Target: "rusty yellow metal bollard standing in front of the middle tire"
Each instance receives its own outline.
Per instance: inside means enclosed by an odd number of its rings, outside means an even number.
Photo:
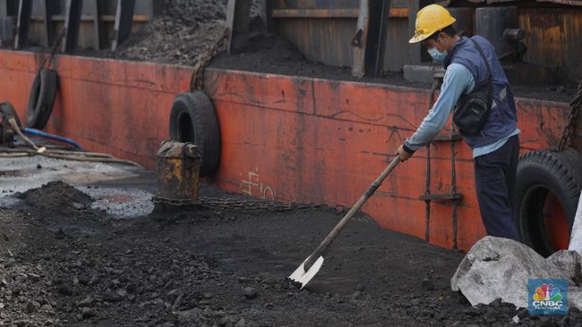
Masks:
[[[163,141],[158,149],[158,194],[156,200],[173,205],[198,201],[200,148],[192,143]]]

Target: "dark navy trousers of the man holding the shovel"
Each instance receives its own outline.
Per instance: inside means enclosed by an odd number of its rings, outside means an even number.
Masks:
[[[477,199],[487,235],[518,240],[511,214],[518,160],[518,136],[509,138],[492,153],[474,159]]]

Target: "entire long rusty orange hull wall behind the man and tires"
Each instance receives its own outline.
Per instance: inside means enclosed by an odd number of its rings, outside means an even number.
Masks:
[[[0,100],[24,118],[39,59],[0,51]],[[190,69],[64,56],[57,61],[61,91],[48,131],[155,168],[167,138],[176,93],[188,88]],[[428,111],[424,89],[210,69],[206,91],[218,113],[222,153],[211,182],[222,189],[283,201],[353,205]],[[567,104],[518,99],[522,149],[555,145]],[[450,145],[432,146],[432,193],[450,190]],[[424,238],[426,150],[401,164],[364,205],[364,212],[395,231]],[[471,152],[457,142],[458,246],[484,236],[478,214]],[[432,204],[431,242],[452,246],[449,203]],[[304,228],[290,226],[290,228]]]

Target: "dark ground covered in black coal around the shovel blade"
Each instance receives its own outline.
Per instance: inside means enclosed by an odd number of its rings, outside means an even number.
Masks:
[[[343,213],[211,187],[201,195],[193,211],[133,219],[61,181],[9,196],[13,204],[0,207],[0,326],[503,326],[516,314],[519,325],[582,325],[578,310],[470,306],[449,287],[461,253],[364,215],[300,291],[287,275]]]

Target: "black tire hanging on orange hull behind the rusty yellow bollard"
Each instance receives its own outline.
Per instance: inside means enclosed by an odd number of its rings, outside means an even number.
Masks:
[[[201,177],[218,170],[220,161],[220,129],[210,98],[202,91],[175,96],[170,113],[170,138],[192,142],[201,149]]]

